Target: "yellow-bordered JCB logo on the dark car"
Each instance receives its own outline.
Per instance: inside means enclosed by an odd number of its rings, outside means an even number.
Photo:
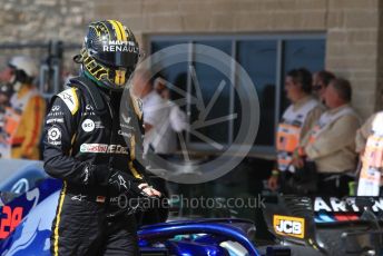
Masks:
[[[305,236],[304,218],[274,215],[273,227],[275,233],[282,236],[292,236],[297,238],[304,238]]]

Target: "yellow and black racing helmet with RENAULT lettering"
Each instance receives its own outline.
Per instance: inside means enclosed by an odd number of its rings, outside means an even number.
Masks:
[[[135,70],[140,52],[134,33],[117,20],[92,22],[88,27],[81,53],[85,76],[98,86],[121,90]]]

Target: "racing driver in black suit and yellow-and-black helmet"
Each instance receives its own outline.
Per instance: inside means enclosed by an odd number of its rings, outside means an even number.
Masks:
[[[130,200],[160,193],[145,181],[135,158],[138,129],[121,132],[128,125],[119,120],[122,90],[138,59],[138,43],[127,27],[117,20],[92,22],[73,58],[81,63],[80,76],[51,100],[45,169],[63,180],[51,229],[52,255],[139,254],[131,210],[139,207],[125,209],[118,200],[121,195]],[[139,99],[124,100],[141,122]]]

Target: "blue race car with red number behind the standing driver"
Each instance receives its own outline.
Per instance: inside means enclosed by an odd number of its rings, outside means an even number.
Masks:
[[[45,174],[42,163],[23,161],[16,166],[19,168],[0,185],[12,194],[0,206],[0,254],[50,255],[50,229],[61,183]],[[29,189],[10,189],[23,177],[28,177]],[[252,221],[233,218],[184,219],[141,226],[138,230],[140,254],[289,255],[288,248],[256,248],[251,239],[254,230]]]

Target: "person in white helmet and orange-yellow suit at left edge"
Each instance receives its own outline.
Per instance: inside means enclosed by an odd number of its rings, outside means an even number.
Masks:
[[[46,101],[33,86],[38,75],[35,61],[27,56],[10,59],[0,72],[0,81],[14,90],[6,110],[2,142],[7,146],[3,158],[40,159],[39,142]]]

